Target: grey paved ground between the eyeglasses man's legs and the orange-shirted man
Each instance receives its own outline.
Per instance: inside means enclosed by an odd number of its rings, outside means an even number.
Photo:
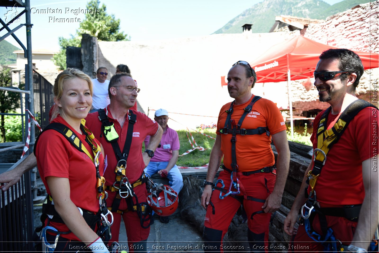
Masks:
[[[169,223],[161,223],[155,214],[154,223],[150,226],[147,249],[143,252],[204,252],[202,235],[191,225],[182,221],[176,211],[170,216]],[[127,237],[124,222],[121,221],[119,244],[127,250]]]

